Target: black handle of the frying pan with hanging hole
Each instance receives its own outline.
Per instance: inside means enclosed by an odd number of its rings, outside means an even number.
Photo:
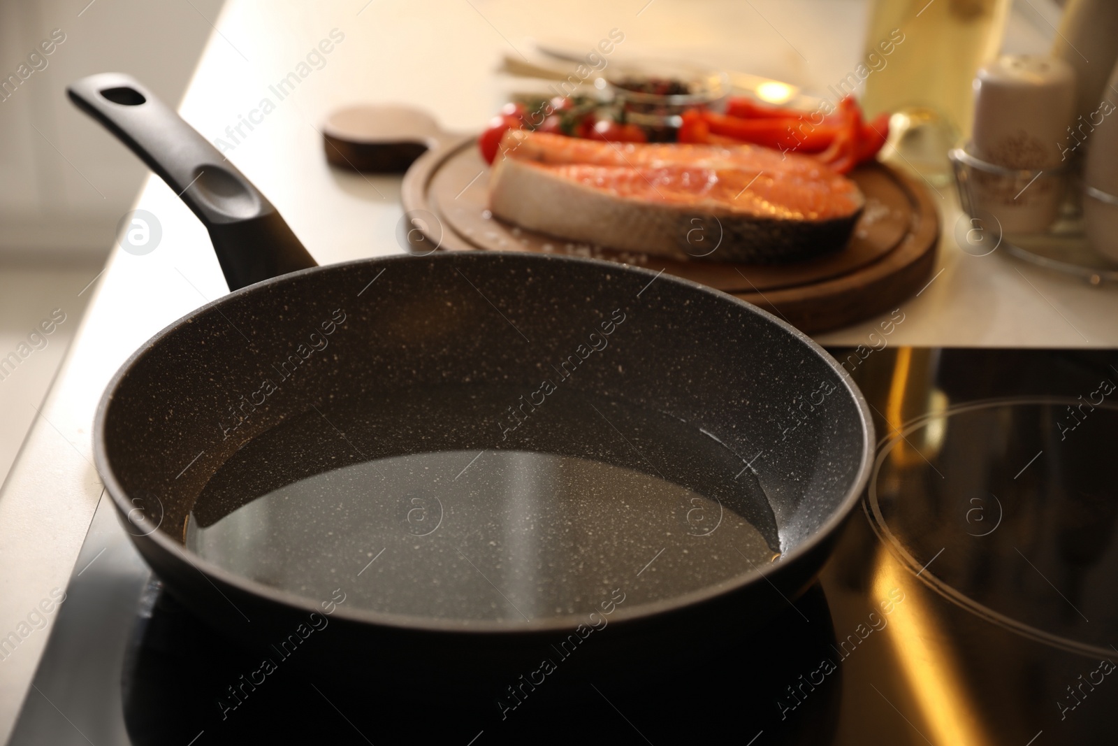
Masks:
[[[91,75],[70,101],[158,173],[209,230],[229,290],[316,266],[276,208],[167,104],[135,78]]]

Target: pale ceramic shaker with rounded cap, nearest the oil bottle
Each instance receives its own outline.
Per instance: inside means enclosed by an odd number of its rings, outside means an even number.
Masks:
[[[972,190],[1005,233],[1041,232],[1059,215],[1062,167],[1076,144],[1074,83],[1071,65],[1038,55],[1005,55],[978,69],[970,154],[1012,172],[978,169]]]

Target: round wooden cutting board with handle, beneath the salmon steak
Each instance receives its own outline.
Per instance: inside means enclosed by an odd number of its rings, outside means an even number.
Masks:
[[[399,122],[399,110],[390,111]],[[348,110],[343,138],[328,123],[325,150],[329,158],[340,139],[375,150],[429,148],[408,169],[401,191],[410,219],[407,235],[413,242],[421,237],[417,246],[570,254],[664,271],[731,293],[809,333],[897,308],[928,282],[935,266],[939,219],[930,196],[910,177],[881,163],[851,173],[866,205],[842,251],[783,266],[713,262],[717,248],[708,258],[681,261],[571,243],[503,223],[487,209],[490,167],[477,151],[476,138],[454,138],[432,124],[420,128],[424,131],[408,143],[398,132],[385,135],[386,113],[377,106]],[[363,138],[362,119],[368,122]],[[409,126],[401,122],[396,129]],[[718,236],[711,238],[717,245]]]

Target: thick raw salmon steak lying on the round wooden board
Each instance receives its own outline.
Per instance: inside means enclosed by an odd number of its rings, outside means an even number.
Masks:
[[[490,210],[529,230],[684,259],[784,264],[846,245],[865,198],[815,158],[750,144],[509,130]]]

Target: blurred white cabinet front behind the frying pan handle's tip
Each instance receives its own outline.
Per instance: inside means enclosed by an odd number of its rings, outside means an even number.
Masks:
[[[54,29],[65,35],[44,57],[46,67],[0,101],[0,272],[12,261],[104,259],[146,168],[67,101],[66,85],[92,73],[131,73],[177,104],[220,7],[220,0],[0,0],[0,81],[18,76]]]

